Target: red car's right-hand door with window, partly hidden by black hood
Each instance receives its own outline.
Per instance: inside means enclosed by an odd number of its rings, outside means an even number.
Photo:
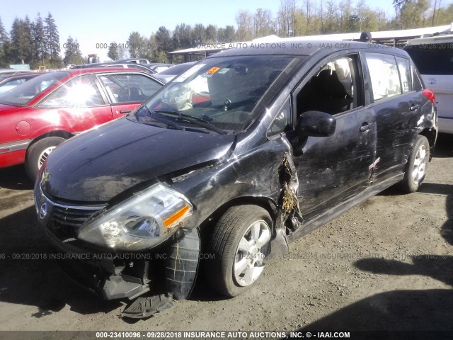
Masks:
[[[151,77],[132,72],[99,74],[98,79],[108,95],[113,118],[130,113],[162,87]]]

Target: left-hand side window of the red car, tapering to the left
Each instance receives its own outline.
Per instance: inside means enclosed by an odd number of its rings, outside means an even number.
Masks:
[[[104,100],[93,77],[86,74],[67,81],[47,96],[38,107],[84,108],[103,105]]]

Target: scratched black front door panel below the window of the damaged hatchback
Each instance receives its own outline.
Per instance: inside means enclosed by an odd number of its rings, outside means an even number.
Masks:
[[[357,195],[369,183],[376,143],[373,111],[360,108],[338,115],[336,120],[336,132],[331,137],[308,137],[302,154],[294,157],[304,220]],[[372,128],[361,132],[364,123]]]

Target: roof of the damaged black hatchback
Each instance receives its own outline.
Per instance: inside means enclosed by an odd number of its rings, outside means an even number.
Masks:
[[[237,43],[239,45],[240,43]],[[350,40],[284,40],[275,42],[241,43],[238,48],[223,50],[208,58],[234,55],[329,55],[340,50],[367,50],[407,56],[403,50],[387,45]],[[242,46],[242,47],[240,47]]]

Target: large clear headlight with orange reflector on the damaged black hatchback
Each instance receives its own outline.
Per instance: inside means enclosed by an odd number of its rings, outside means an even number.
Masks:
[[[159,183],[88,220],[77,234],[99,246],[144,250],[170,237],[192,211],[185,196]]]

